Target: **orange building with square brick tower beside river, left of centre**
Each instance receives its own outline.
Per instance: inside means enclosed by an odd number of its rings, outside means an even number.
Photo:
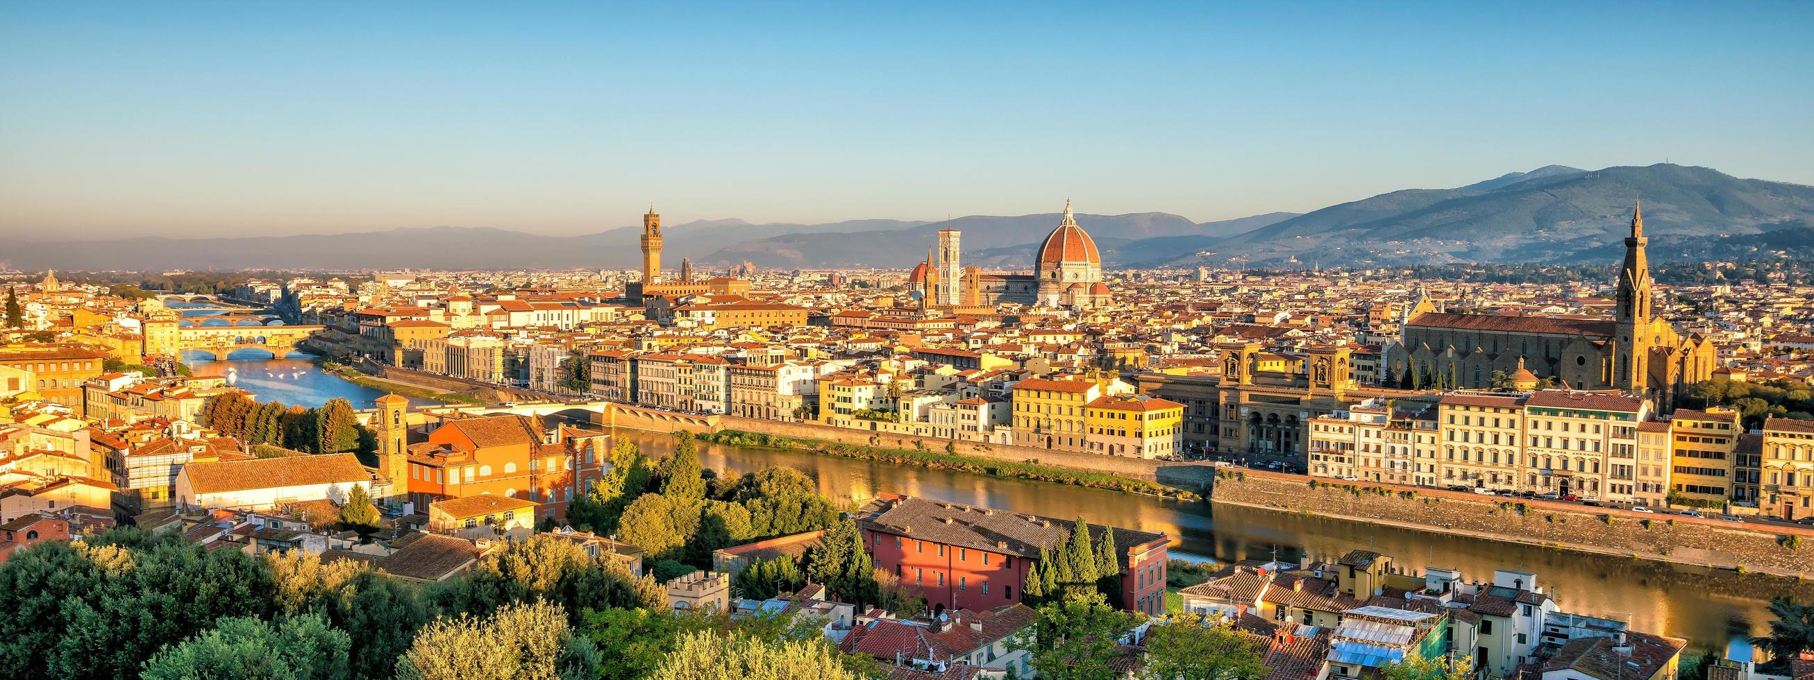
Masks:
[[[533,500],[535,519],[564,519],[568,502],[597,484],[610,459],[610,437],[561,426],[542,441],[541,421],[486,415],[448,421],[408,444],[408,403],[377,399],[379,453],[397,500],[419,511],[435,500],[473,495]],[[395,455],[401,448],[403,455]]]

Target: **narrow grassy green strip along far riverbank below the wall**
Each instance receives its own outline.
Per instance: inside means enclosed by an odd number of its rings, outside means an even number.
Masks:
[[[989,477],[1009,477],[1009,479],[1029,479],[1036,482],[1054,482],[1054,484],[1072,484],[1072,486],[1090,486],[1110,491],[1128,491],[1157,495],[1166,499],[1195,500],[1197,495],[1186,490],[1148,482],[1141,479],[1126,479],[1099,471],[1079,471],[1067,470],[1048,464],[1039,464],[1036,461],[1014,462],[1014,461],[992,461],[976,459],[961,453],[932,453],[923,450],[905,450],[905,448],[882,448],[882,446],[863,446],[863,444],[844,444],[824,439],[795,439],[778,437],[760,432],[742,432],[742,430],[718,430],[713,433],[700,435],[702,441],[726,446],[760,446],[760,448],[784,448],[814,452],[825,455],[838,455],[845,459],[876,461],[891,464],[911,464],[918,468],[931,470],[956,470],[969,471],[976,475]]]

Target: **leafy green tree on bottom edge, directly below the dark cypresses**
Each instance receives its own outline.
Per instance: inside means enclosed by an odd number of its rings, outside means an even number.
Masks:
[[[1041,678],[1110,680],[1119,638],[1134,627],[1134,615],[1108,606],[1101,593],[1078,593],[1039,607],[1032,635],[1016,642],[1027,649]]]

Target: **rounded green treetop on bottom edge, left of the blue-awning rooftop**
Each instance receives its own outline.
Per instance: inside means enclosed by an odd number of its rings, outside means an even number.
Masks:
[[[1261,680],[1266,669],[1264,638],[1214,626],[1201,615],[1181,615],[1168,626],[1146,629],[1145,676]]]

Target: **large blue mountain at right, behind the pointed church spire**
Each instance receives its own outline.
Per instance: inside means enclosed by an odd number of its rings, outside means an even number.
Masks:
[[[1331,205],[1221,239],[1214,256],[1179,252],[1145,265],[1569,261],[1618,243],[1636,199],[1643,199],[1653,238],[1745,236],[1814,218],[1814,187],[1805,185],[1667,163],[1589,172],[1547,167]]]

